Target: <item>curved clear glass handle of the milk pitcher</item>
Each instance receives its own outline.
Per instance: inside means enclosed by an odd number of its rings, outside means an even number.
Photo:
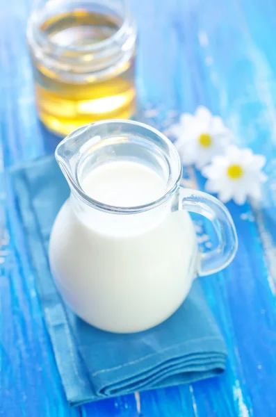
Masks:
[[[212,195],[180,187],[179,210],[192,211],[211,220],[218,236],[215,249],[200,252],[197,275],[210,275],[229,265],[238,249],[238,238],[234,222],[225,205]]]

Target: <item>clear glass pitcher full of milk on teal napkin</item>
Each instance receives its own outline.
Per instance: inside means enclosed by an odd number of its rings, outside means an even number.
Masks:
[[[156,129],[122,120],[88,124],[60,142],[56,160],[71,195],[51,232],[51,271],[65,302],[91,325],[122,333],[158,325],[195,277],[234,258],[227,208],[180,186],[177,149]],[[218,245],[210,252],[198,250],[189,211],[211,220]]]

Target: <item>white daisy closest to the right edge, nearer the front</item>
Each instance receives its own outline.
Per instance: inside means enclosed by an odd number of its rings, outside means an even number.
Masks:
[[[236,204],[244,204],[247,197],[260,199],[261,183],[267,179],[261,172],[265,163],[263,155],[231,145],[225,156],[215,156],[211,165],[203,168],[202,174],[208,178],[205,188],[209,193],[218,193],[224,203],[234,199]]]

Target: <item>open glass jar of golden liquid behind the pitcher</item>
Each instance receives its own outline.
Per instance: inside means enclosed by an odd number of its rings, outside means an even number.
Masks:
[[[38,113],[60,136],[135,111],[136,26],[124,0],[42,0],[27,38]]]

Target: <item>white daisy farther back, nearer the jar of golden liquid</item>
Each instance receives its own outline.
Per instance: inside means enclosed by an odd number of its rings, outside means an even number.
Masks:
[[[204,106],[198,107],[195,115],[181,115],[179,124],[174,124],[169,133],[177,138],[174,145],[182,163],[194,163],[198,169],[209,163],[213,156],[223,154],[232,138],[222,119],[211,115]]]

